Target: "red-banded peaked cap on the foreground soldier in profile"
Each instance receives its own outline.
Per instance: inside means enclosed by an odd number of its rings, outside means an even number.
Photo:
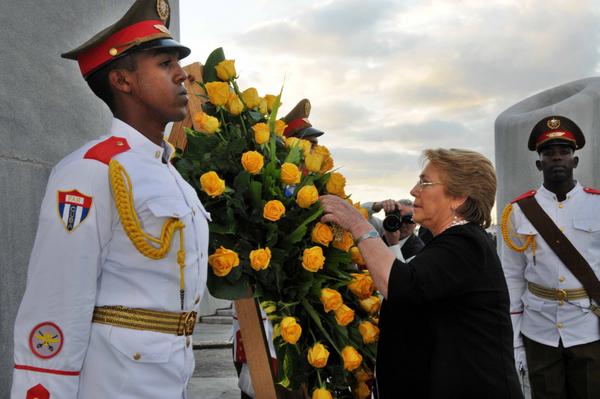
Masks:
[[[133,51],[174,48],[180,59],[187,57],[190,49],[176,42],[169,32],[170,19],[168,0],[136,0],[120,20],[61,57],[76,60],[86,79]]]

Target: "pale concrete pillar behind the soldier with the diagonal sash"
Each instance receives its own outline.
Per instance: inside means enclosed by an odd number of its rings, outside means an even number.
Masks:
[[[533,95],[502,112],[496,119],[497,214],[517,195],[537,189],[542,174],[535,167],[538,154],[527,149],[533,126],[542,118],[562,115],[585,135],[585,147],[576,152],[575,178],[584,186],[600,187],[600,78],[569,82]]]

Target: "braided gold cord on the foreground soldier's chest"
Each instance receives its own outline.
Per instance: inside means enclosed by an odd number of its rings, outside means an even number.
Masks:
[[[125,168],[115,159],[112,159],[108,165],[108,175],[112,194],[115,200],[115,206],[121,224],[127,234],[127,237],[133,243],[133,246],[144,256],[150,259],[163,259],[171,249],[173,235],[179,231],[179,251],[177,251],[177,264],[179,264],[179,296],[181,301],[181,310],[183,310],[185,299],[185,242],[183,229],[185,224],[177,218],[169,218],[162,227],[160,238],[156,238],[142,229],[137,212],[133,206],[133,186],[131,179],[125,171]],[[158,247],[151,244],[157,244]]]

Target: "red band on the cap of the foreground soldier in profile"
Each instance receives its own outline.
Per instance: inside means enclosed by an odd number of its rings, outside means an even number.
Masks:
[[[160,20],[142,21],[121,29],[77,57],[81,74],[84,78],[87,77],[90,72],[134,45],[158,38],[171,38],[168,32]]]

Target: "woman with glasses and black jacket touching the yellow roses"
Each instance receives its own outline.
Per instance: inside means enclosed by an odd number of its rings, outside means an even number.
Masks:
[[[484,230],[496,194],[494,168],[467,150],[426,150],[424,159],[411,190],[413,220],[433,239],[408,263],[395,259],[350,204],[321,197],[322,221],[350,231],[385,298],[379,397],[522,398],[508,290]]]

